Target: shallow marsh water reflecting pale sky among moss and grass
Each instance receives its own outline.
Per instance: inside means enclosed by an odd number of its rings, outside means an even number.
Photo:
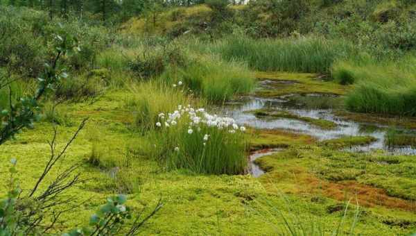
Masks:
[[[275,86],[275,81],[262,81],[259,90]],[[279,81],[279,83],[292,83],[291,81]],[[278,89],[278,87],[276,88]],[[346,151],[367,152],[382,149],[391,155],[416,155],[415,146],[392,146],[387,140],[387,134],[391,130],[401,133],[415,135],[416,130],[408,130],[400,127],[386,126],[376,123],[356,122],[338,117],[334,111],[342,107],[342,99],[331,94],[289,94],[276,98],[263,98],[259,96],[245,96],[236,101],[226,104],[223,108],[225,115],[233,117],[239,124],[253,128],[288,130],[293,133],[311,135],[317,140],[332,140],[345,136],[372,136],[376,141],[363,145],[351,146]],[[310,117],[313,119],[325,119],[336,124],[336,128],[325,129],[298,119],[257,117],[253,110],[267,108],[267,110],[284,110],[299,117]],[[254,160],[264,155],[270,155],[280,151],[279,149],[263,150],[252,153],[251,169],[252,175],[257,177],[263,171],[254,164]]]

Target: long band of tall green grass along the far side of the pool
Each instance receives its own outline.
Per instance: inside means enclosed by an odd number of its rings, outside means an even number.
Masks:
[[[212,50],[226,60],[243,60],[261,71],[311,73],[325,73],[335,60],[354,53],[354,47],[347,42],[320,37],[281,40],[229,37],[214,44]]]

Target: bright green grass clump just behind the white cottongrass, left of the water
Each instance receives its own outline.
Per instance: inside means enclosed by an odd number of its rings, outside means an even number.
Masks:
[[[225,62],[215,56],[200,56],[185,67],[170,67],[161,78],[173,84],[181,81],[185,90],[216,103],[250,92],[255,82],[245,64]]]

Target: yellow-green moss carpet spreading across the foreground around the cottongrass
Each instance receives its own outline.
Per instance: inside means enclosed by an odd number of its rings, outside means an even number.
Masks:
[[[90,179],[71,189],[79,201],[90,200],[79,210],[62,216],[69,228],[87,222],[106,196],[123,191],[128,192],[128,205],[137,212],[144,207],[150,210],[162,196],[164,207],[144,226],[144,235],[277,235],[280,231],[276,226],[281,217],[268,212],[278,208],[287,216],[289,207],[301,209],[296,214],[302,219],[311,219],[318,214],[331,233],[342,214],[329,213],[327,209],[348,199],[333,199],[320,192],[307,193],[302,189],[308,189],[305,186],[311,182],[306,180],[355,178],[363,185],[388,189],[389,196],[403,199],[415,196],[416,176],[413,171],[403,171],[415,168],[412,157],[334,152],[314,146],[315,140],[308,135],[281,130],[248,130],[254,149],[289,147],[281,155],[259,159],[259,164],[270,171],[259,179],[248,175],[197,175],[184,170],[166,172],[146,155],[146,149],[154,148],[153,144],[131,128],[135,115],[125,107],[126,96],[125,91],[107,92],[94,103],[62,104],[73,126],[58,126],[58,147],[71,137],[81,119],[90,117],[87,127],[60,163],[60,167],[69,167],[81,162],[81,173]],[[3,164],[0,178],[8,178],[7,171],[4,171],[6,163],[16,157],[21,187],[29,189],[33,186],[48,159],[46,140],[51,138],[52,128],[51,123],[38,123],[34,130],[18,135],[16,141],[1,145],[0,161]],[[101,165],[87,161],[94,145]],[[110,175],[114,167],[119,167],[117,178]],[[57,171],[54,169],[47,181]],[[309,173],[319,178],[306,178]],[[304,184],[295,181],[301,177]],[[311,186],[319,189],[319,185]],[[4,187],[0,186],[2,192]],[[273,208],[269,208],[268,203],[272,203]],[[413,212],[383,205],[374,205],[364,211],[356,233],[376,235],[382,231],[395,235],[410,233],[415,228]],[[352,220],[349,214],[345,219],[345,230]],[[400,227],[403,222],[410,222],[408,228]]]

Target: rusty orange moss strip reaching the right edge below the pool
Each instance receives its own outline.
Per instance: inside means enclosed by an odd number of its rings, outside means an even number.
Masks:
[[[273,182],[270,182],[270,179]],[[276,183],[275,180],[279,180],[279,182]],[[283,189],[288,194],[318,194],[338,201],[357,200],[359,205],[365,207],[383,206],[416,212],[416,201],[388,196],[385,189],[364,185],[355,180],[340,182],[322,180],[309,173],[306,167],[285,166],[279,167],[279,170],[275,168],[263,178],[263,182],[267,182],[265,183],[266,188],[270,190]]]

